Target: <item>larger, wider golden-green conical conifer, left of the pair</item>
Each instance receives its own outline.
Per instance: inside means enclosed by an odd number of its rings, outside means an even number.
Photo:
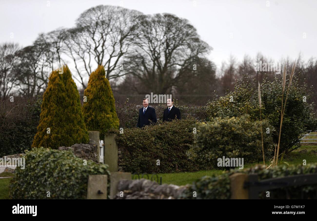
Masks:
[[[52,71],[49,76],[32,147],[57,149],[89,141],[76,84],[68,67],[63,69],[63,74]],[[50,133],[47,133],[47,128],[50,128]]]

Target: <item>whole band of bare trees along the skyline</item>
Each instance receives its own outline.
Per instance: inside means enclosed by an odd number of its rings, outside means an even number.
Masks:
[[[62,24],[61,24],[62,26]],[[217,44],[217,42],[213,43]],[[230,56],[220,67],[208,59],[212,47],[190,21],[172,14],[144,15],[136,10],[99,5],[82,12],[72,28],[40,33],[32,45],[0,44],[0,100],[11,95],[31,98],[45,91],[52,70],[67,64],[79,87],[103,65],[116,101],[142,102],[146,94],[171,94],[180,104],[205,104],[234,89],[237,79],[251,85],[281,77],[276,71],[255,70],[273,63],[260,53],[237,61]],[[269,55],[268,55],[269,56]],[[297,57],[301,81],[316,87],[317,60]],[[277,67],[290,73],[291,59]],[[308,102],[316,102],[314,97]]]

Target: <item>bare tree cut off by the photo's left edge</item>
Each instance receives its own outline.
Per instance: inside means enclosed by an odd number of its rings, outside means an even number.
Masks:
[[[13,68],[17,63],[18,44],[4,43],[0,45],[0,99],[5,100],[16,83]]]

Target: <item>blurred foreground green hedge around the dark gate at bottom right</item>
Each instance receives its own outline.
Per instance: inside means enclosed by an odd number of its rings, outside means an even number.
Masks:
[[[216,177],[202,177],[195,181],[183,192],[181,199],[230,199],[230,175],[242,172],[246,174],[256,173],[259,180],[285,177],[300,174],[312,174],[317,172],[317,163],[303,165],[280,165],[274,168],[265,169],[264,165],[256,165],[246,170],[231,170]],[[193,197],[193,191],[197,197]],[[316,199],[316,185],[302,185],[294,187],[283,187],[275,190],[268,190],[270,197],[266,197],[266,191],[259,193],[260,199],[287,199],[287,192],[290,199],[301,199],[303,191],[304,199]]]

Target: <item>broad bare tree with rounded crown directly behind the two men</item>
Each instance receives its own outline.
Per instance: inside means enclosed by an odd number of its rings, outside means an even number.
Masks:
[[[211,48],[186,20],[171,14],[140,16],[139,35],[125,56],[125,73],[135,76],[140,94],[165,94],[197,68]]]

